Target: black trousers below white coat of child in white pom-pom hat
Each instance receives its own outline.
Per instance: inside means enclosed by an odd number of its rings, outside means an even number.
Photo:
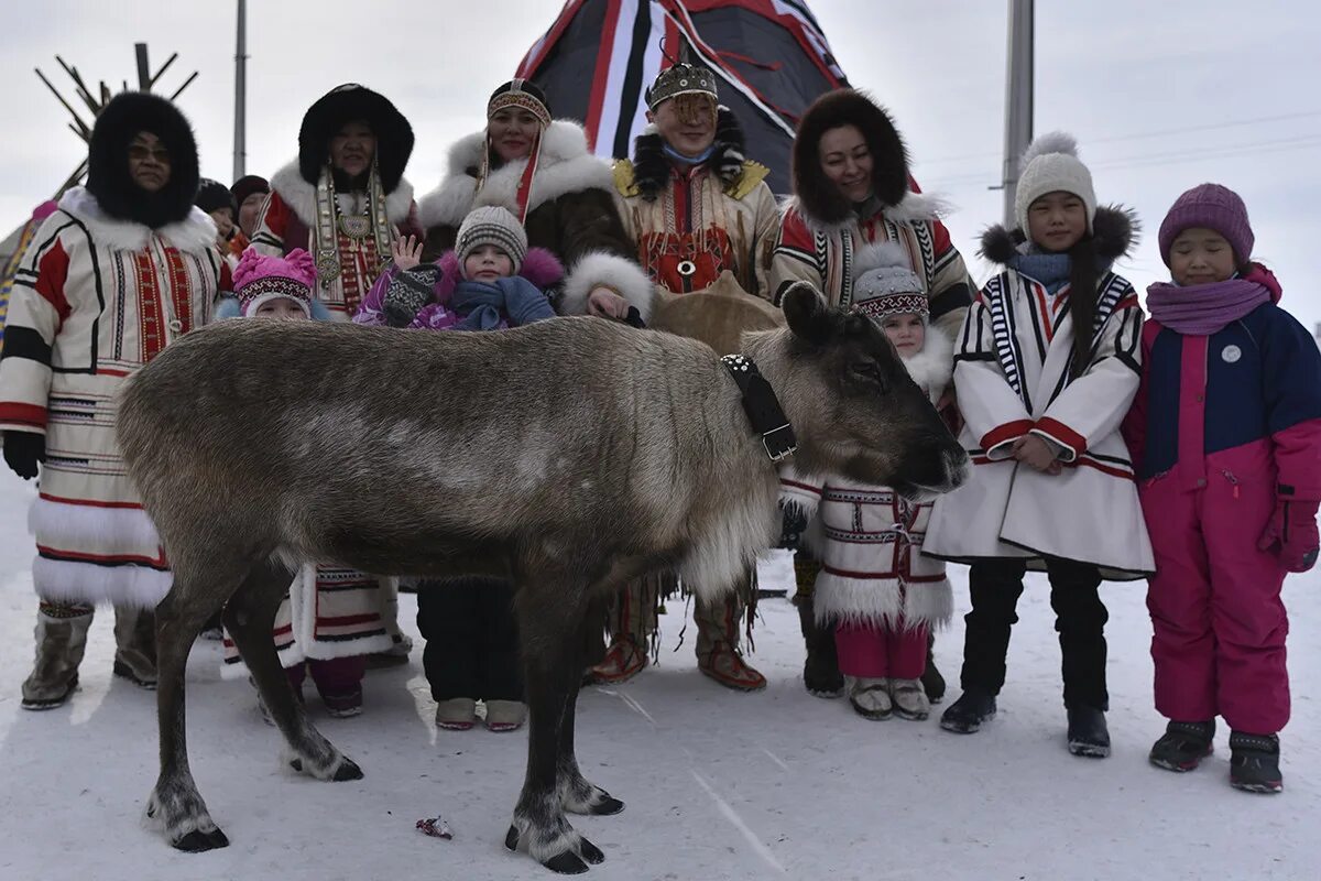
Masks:
[[[1004,687],[1009,631],[1018,622],[1026,560],[1003,559],[974,563],[968,572],[972,610],[964,616],[963,688],[982,688],[999,695]],[[1100,601],[1100,572],[1095,565],[1046,559],[1050,608],[1059,634],[1065,704],[1082,703],[1110,709],[1106,691],[1106,621],[1110,613]]]

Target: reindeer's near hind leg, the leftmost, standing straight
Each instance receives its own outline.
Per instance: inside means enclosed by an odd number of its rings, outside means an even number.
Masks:
[[[235,553],[230,559],[240,559]],[[174,584],[156,606],[156,717],[160,728],[161,770],[156,787],[147,799],[151,818],[180,851],[210,851],[226,847],[230,840],[215,826],[206,802],[197,791],[188,765],[188,737],[184,707],[184,668],[188,652],[206,621],[219,612],[226,597],[242,580],[242,569],[229,577],[199,577],[207,565],[189,565],[173,560]]]

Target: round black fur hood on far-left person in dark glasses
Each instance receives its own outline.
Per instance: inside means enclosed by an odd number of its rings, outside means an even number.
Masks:
[[[156,193],[128,174],[128,145],[140,132],[151,132],[169,151],[169,181]],[[110,217],[153,230],[177,223],[193,210],[198,177],[193,128],[164,98],[120,92],[96,116],[87,151],[87,192]]]

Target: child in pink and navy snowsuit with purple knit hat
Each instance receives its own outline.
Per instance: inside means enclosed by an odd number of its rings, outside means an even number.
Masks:
[[[1143,380],[1124,433],[1156,555],[1147,605],[1156,709],[1153,765],[1188,771],[1230,734],[1230,782],[1279,793],[1289,720],[1280,600],[1285,572],[1317,556],[1321,353],[1251,262],[1232,190],[1184,193],[1160,227],[1173,283],[1148,288]]]

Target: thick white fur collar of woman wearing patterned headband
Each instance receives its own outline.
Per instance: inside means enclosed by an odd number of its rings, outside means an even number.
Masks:
[[[477,193],[477,170],[482,151],[486,149],[486,129],[460,139],[449,148],[445,180],[417,202],[417,219],[423,229],[435,226],[457,227],[468,213],[480,205],[501,205],[517,214],[519,180],[527,160],[493,168],[486,185]],[[610,164],[593,156],[587,148],[587,132],[572,120],[556,119],[542,135],[542,155],[532,181],[532,195],[527,210],[557,199],[565,193],[614,189]]]

